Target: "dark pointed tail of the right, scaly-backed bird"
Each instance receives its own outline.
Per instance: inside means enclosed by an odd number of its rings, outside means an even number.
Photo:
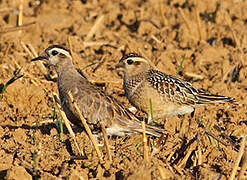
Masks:
[[[199,93],[197,95],[198,104],[211,104],[211,103],[232,103],[237,104],[234,98],[221,96],[216,94]]]

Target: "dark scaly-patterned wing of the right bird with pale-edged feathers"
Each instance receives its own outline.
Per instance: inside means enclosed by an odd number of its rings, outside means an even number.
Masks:
[[[235,103],[234,98],[198,90],[187,81],[157,70],[150,70],[148,72],[148,81],[160,94],[164,94],[165,98],[169,101],[180,104]]]

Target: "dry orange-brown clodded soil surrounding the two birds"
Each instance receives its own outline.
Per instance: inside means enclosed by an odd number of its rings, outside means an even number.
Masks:
[[[230,178],[247,132],[247,1],[23,0],[20,22],[21,2],[0,1],[0,83],[20,67],[24,75],[0,100],[0,179]],[[66,128],[61,141],[53,118],[58,91],[48,77],[55,73],[30,62],[28,50],[40,53],[51,44],[70,47],[76,67],[128,107],[114,70],[128,52],[238,105],[209,105],[193,118],[162,121],[169,135],[160,143],[149,138],[150,162],[143,158],[142,135],[110,139],[113,161],[104,147],[99,161],[86,133],[73,127],[87,156],[75,158],[74,142]],[[236,177],[244,166],[243,158]]]

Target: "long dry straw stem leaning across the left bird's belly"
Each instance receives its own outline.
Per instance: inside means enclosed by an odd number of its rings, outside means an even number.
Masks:
[[[70,98],[71,102],[73,103],[73,106],[74,106],[74,108],[75,108],[75,110],[76,110],[76,112],[77,112],[77,114],[78,114],[78,116],[79,116],[79,118],[80,118],[80,120],[81,120],[83,126],[85,127],[85,129],[86,129],[86,131],[87,131],[87,134],[88,134],[90,140],[91,140],[92,143],[93,143],[93,146],[94,146],[94,148],[95,148],[95,150],[96,150],[96,153],[97,153],[97,155],[98,155],[98,157],[99,157],[99,160],[102,160],[102,154],[101,154],[101,152],[100,152],[100,150],[99,150],[99,147],[98,147],[98,145],[97,145],[97,143],[96,143],[96,141],[95,141],[95,139],[94,139],[94,137],[93,137],[93,134],[92,134],[92,132],[91,132],[89,126],[87,125],[86,120],[85,120],[84,117],[82,116],[82,114],[81,114],[81,112],[80,112],[80,109],[78,108],[76,102],[74,101],[74,98],[73,98],[71,92],[69,92],[68,95],[69,95],[69,98]]]

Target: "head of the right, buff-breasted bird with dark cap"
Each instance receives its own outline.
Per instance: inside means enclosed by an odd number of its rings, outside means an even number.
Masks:
[[[150,69],[149,62],[142,56],[130,53],[124,55],[116,65],[118,71],[123,71],[127,76],[135,76]]]

